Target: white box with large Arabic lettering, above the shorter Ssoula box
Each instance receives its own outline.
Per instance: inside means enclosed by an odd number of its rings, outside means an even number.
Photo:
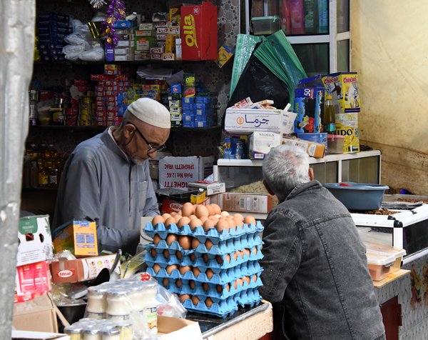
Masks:
[[[232,134],[251,134],[254,131],[282,131],[281,110],[226,109],[225,131]]]

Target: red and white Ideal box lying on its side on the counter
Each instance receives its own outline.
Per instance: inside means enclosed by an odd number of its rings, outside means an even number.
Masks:
[[[111,269],[116,254],[86,257],[84,259],[67,260],[51,262],[51,275],[54,284],[76,283],[95,279],[104,268]],[[118,267],[115,269],[119,273]]]

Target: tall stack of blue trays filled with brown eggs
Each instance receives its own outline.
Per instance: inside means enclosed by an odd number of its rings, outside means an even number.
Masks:
[[[182,211],[187,208],[183,205]],[[195,214],[198,216],[198,206]],[[145,257],[147,271],[166,289],[180,294],[186,309],[226,317],[234,314],[238,306],[260,302],[260,221],[243,221],[240,214],[218,220],[211,215],[203,225],[197,225],[201,220],[193,216],[166,215],[165,222],[155,224],[163,217],[156,216],[154,225],[146,225],[146,234],[153,237]],[[170,219],[178,221],[172,223]],[[240,222],[235,226],[222,228],[221,224],[230,225],[230,220],[237,219]]]

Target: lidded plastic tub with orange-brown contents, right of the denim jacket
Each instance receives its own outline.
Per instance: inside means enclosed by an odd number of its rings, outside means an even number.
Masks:
[[[373,281],[381,281],[390,273],[400,269],[404,249],[364,241],[367,265]]]

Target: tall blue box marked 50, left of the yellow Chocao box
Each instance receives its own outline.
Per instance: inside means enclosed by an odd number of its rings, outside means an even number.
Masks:
[[[324,86],[320,76],[299,81],[295,89],[295,119],[294,131],[322,132],[321,117],[324,112]]]

